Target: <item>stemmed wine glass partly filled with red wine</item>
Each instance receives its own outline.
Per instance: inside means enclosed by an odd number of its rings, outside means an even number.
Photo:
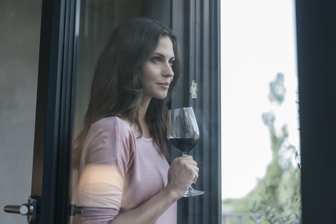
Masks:
[[[168,141],[182,156],[194,148],[200,137],[193,107],[183,107],[168,111]],[[191,186],[183,197],[202,195],[204,191],[194,190]]]

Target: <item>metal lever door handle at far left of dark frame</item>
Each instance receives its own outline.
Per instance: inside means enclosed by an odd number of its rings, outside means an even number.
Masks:
[[[6,205],[3,211],[13,214],[21,214],[27,216],[28,223],[38,223],[37,209],[38,209],[38,197],[30,196],[27,204],[22,205]]]

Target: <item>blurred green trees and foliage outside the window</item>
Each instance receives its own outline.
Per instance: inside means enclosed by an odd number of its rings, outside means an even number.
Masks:
[[[282,104],[286,89],[283,74],[278,73],[269,84],[269,101]],[[286,153],[297,150],[288,144],[288,130],[283,125],[274,127],[274,113],[262,114],[262,121],[268,127],[271,139],[272,162],[269,163],[265,177],[258,180],[257,186],[246,197],[237,200],[224,200],[223,205],[232,207],[235,214],[251,214],[244,223],[302,223],[300,197],[300,164],[292,165],[292,158]]]

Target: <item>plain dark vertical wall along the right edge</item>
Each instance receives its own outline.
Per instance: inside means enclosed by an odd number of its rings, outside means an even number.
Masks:
[[[336,223],[336,2],[296,13],[303,223]]]

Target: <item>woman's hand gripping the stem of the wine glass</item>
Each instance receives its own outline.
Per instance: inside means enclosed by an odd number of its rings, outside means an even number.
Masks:
[[[197,162],[190,155],[174,159],[168,171],[167,190],[172,190],[179,199],[197,180],[198,170]]]

